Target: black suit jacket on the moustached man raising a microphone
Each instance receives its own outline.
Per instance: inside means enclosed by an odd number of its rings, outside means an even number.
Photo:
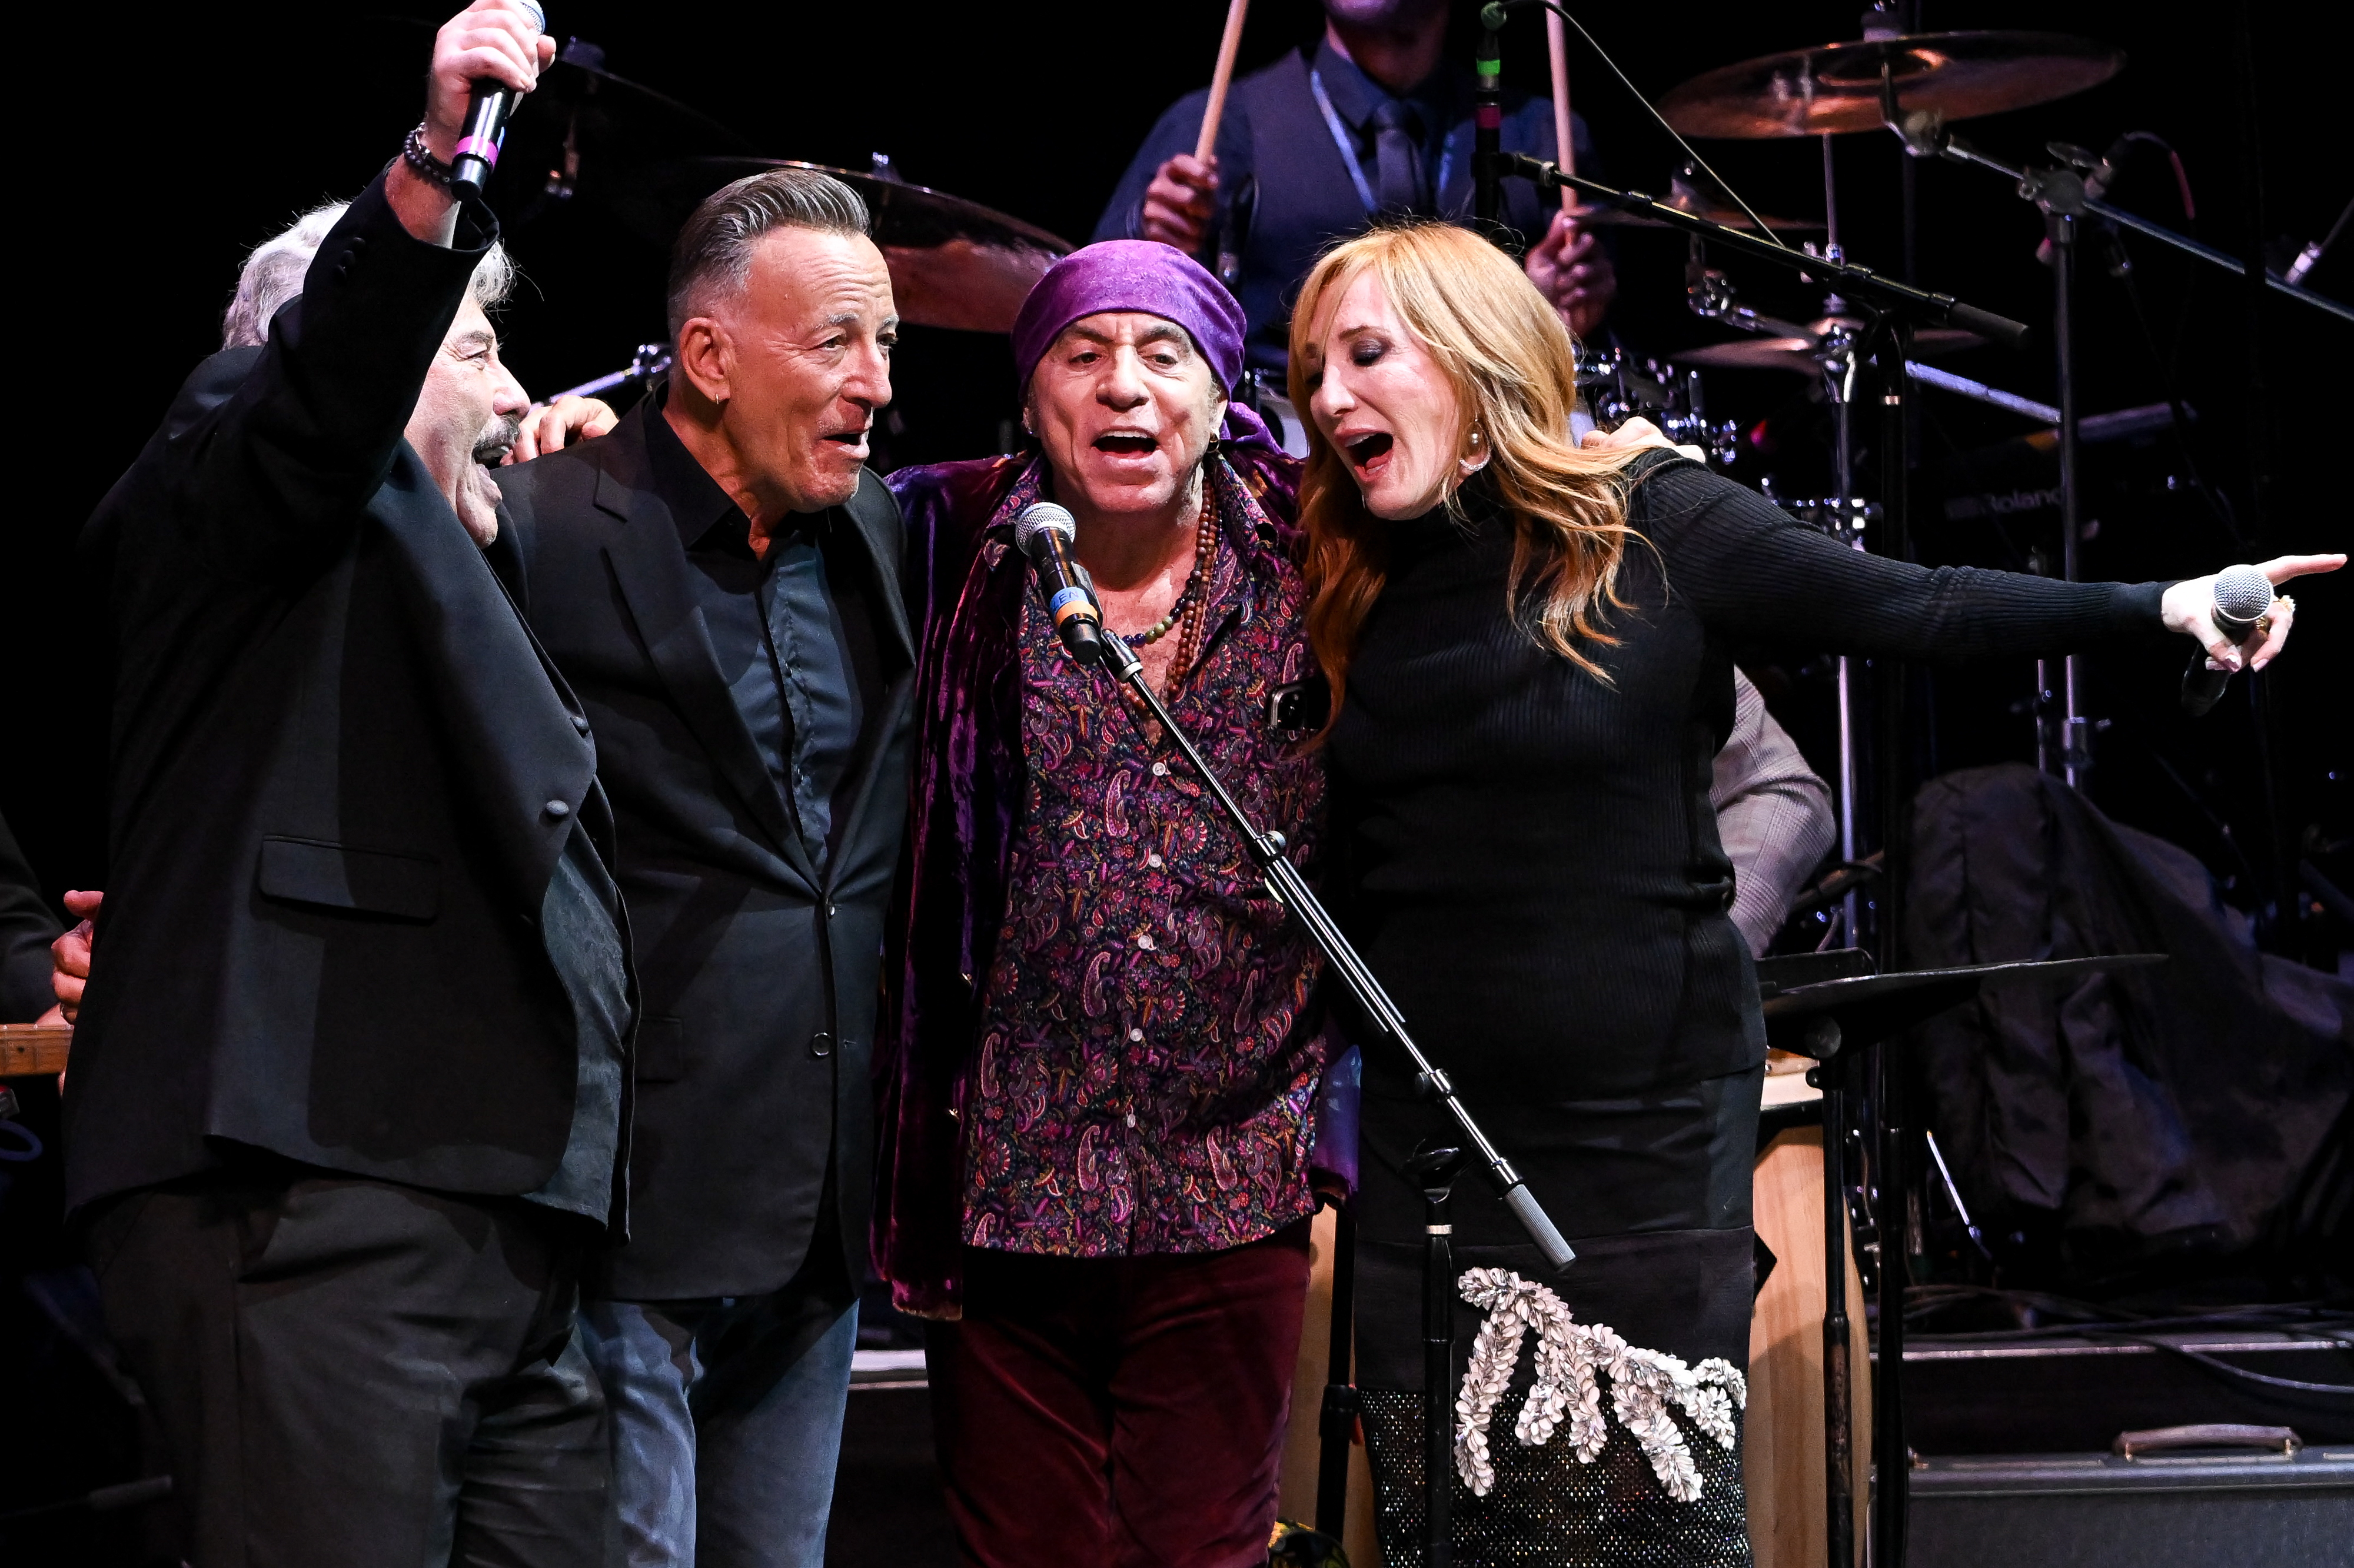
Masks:
[[[73,1205],[224,1142],[473,1194],[556,1170],[574,1048],[537,918],[596,749],[403,438],[490,238],[421,245],[370,186],[89,523],[113,866]]]

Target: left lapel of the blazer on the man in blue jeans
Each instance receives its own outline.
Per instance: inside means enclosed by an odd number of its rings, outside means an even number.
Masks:
[[[760,822],[784,862],[814,892],[817,866],[810,864],[810,850],[800,843],[784,793],[760,760],[760,749],[720,676],[711,631],[687,582],[687,556],[678,546],[671,509],[652,490],[629,485],[612,469],[598,471],[596,504],[621,520],[605,546],[605,560],[678,716],[694,730],[720,777]]]

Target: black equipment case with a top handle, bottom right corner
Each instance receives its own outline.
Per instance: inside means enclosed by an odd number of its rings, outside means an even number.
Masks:
[[[1904,1568],[2349,1568],[2354,1446],[1916,1460]]]

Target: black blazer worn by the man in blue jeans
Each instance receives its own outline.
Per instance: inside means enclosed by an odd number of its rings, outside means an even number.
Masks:
[[[885,690],[819,873],[704,629],[640,403],[619,428],[501,469],[525,610],[588,706],[612,798],[643,1024],[621,1300],[756,1295],[800,1267],[829,1151],[850,1278],[866,1271],[883,906],[906,824],[913,640],[904,530],[862,476],[833,523],[866,544]]]

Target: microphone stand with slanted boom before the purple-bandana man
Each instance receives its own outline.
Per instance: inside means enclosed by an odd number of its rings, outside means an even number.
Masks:
[[[1467,1111],[1464,1102],[1455,1095],[1455,1081],[1448,1078],[1445,1071],[1441,1071],[1438,1067],[1431,1067],[1431,1059],[1422,1055],[1422,1048],[1415,1043],[1415,1036],[1408,1034],[1405,1029],[1405,1015],[1398,1012],[1398,1005],[1394,1001],[1389,1001],[1389,994],[1382,989],[1382,982],[1372,977],[1372,970],[1365,968],[1365,961],[1349,944],[1349,937],[1342,935],[1339,925],[1325,911],[1323,902],[1309,888],[1306,878],[1299,876],[1299,866],[1295,866],[1285,857],[1283,833],[1259,831],[1250,822],[1250,812],[1243,810],[1243,803],[1233,798],[1233,791],[1226,789],[1226,782],[1217,777],[1217,770],[1210,768],[1210,760],[1201,753],[1198,746],[1193,746],[1193,737],[1189,737],[1184,730],[1177,727],[1177,718],[1168,711],[1168,704],[1161,702],[1161,692],[1156,692],[1151,683],[1144,678],[1144,662],[1137,659],[1137,650],[1128,645],[1128,638],[1111,633],[1106,629],[1102,640],[1102,659],[1111,669],[1111,673],[1144,702],[1151,716],[1161,720],[1163,735],[1168,735],[1170,742],[1175,742],[1177,751],[1193,770],[1193,777],[1198,777],[1210,789],[1210,796],[1217,800],[1217,808],[1226,815],[1226,822],[1233,824],[1233,831],[1243,841],[1243,850],[1250,855],[1252,864],[1259,866],[1259,876],[1266,878],[1266,890],[1274,892],[1276,902],[1283,904],[1283,911],[1290,913],[1295,921],[1299,921],[1299,925],[1309,932],[1309,939],[1316,944],[1316,951],[1323,954],[1332,972],[1339,975],[1344,986],[1349,986],[1349,996],[1356,998],[1358,1010],[1372,1024],[1377,1038],[1384,1038],[1405,1052],[1405,1059],[1415,1064],[1415,1085],[1422,1090],[1424,1099],[1436,1099],[1438,1104],[1443,1104],[1448,1114],[1455,1118],[1455,1125],[1462,1128],[1464,1142],[1469,1144],[1471,1151],[1469,1158],[1476,1158],[1488,1170],[1488,1182],[1504,1201],[1504,1208],[1511,1210],[1511,1217],[1521,1222],[1521,1229],[1528,1231],[1528,1238],[1537,1243],[1537,1253],[1544,1255],[1544,1264],[1556,1274],[1570,1267],[1577,1253],[1570,1250],[1570,1243],[1561,1238],[1561,1231],[1554,1227],[1551,1217],[1547,1217],[1544,1205],[1537,1203],[1537,1194],[1528,1191],[1528,1182],[1521,1177],[1518,1170],[1511,1168],[1511,1161],[1507,1161],[1502,1151],[1497,1151],[1497,1147],[1488,1142],[1488,1135],[1481,1132],[1481,1125],[1471,1121],[1471,1111]],[[1422,1182],[1424,1201],[1434,1208],[1434,1212],[1445,1212],[1455,1172],[1464,1163],[1469,1161],[1459,1149],[1417,1154],[1412,1163],[1412,1175]],[[1443,1224],[1443,1220],[1434,1220],[1431,1224],[1434,1227]],[[1335,1229],[1335,1238],[1342,1231]],[[1431,1229],[1434,1245],[1424,1253],[1422,1260],[1422,1271],[1424,1271],[1422,1307],[1424,1307],[1424,1351],[1427,1351],[1424,1389],[1422,1389],[1422,1424],[1424,1424],[1422,1507],[1427,1526],[1424,1533],[1427,1568],[1445,1568],[1452,1547],[1448,1537],[1448,1521],[1455,1502],[1455,1493],[1450,1490],[1455,1483],[1455,1462],[1452,1462],[1455,1267],[1445,1238],[1448,1231]],[[1335,1274],[1335,1285],[1339,1281]],[[1335,1366],[1335,1377],[1339,1377],[1342,1358],[1337,1349],[1332,1356],[1332,1366]],[[1328,1413],[1325,1443],[1330,1446],[1335,1429],[1339,1431],[1346,1429],[1342,1427],[1344,1420],[1342,1413],[1335,1410],[1330,1389],[1325,1391],[1325,1413]],[[1323,1526],[1325,1516],[1332,1516],[1337,1523],[1339,1493],[1346,1488],[1346,1471],[1342,1471],[1339,1483],[1332,1486],[1330,1464],[1332,1462],[1328,1460],[1325,1486],[1321,1488],[1325,1495],[1318,1497],[1318,1509],[1316,1509],[1318,1526]],[[1325,1509],[1328,1500],[1332,1502],[1330,1514]],[[1337,1528],[1332,1533],[1337,1535]]]

